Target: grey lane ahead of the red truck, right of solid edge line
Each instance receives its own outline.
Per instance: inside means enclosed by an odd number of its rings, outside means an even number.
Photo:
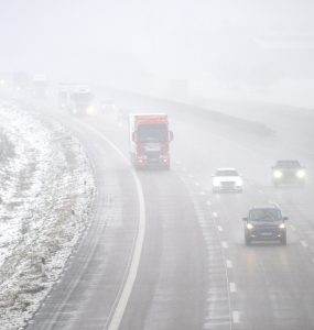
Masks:
[[[121,329],[202,329],[206,249],[188,191],[171,172],[139,177],[147,235]]]

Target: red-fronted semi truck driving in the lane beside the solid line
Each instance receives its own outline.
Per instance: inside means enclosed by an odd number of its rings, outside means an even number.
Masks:
[[[129,116],[131,163],[138,169],[148,167],[170,168],[170,142],[165,113],[132,113]]]

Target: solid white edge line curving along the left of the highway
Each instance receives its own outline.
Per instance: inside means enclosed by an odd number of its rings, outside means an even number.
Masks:
[[[94,131],[96,135],[105,140],[123,160],[124,163],[128,165],[130,164],[129,160],[123,155],[123,153],[109,140],[107,139],[104,134],[98,132],[96,129],[85,124],[89,130]],[[132,177],[136,182],[137,190],[138,190],[138,196],[139,196],[139,208],[140,208],[140,215],[139,215],[139,229],[138,229],[138,235],[134,241],[133,245],[133,255],[131,260],[130,267],[128,270],[128,274],[124,274],[126,282],[123,284],[123,287],[121,287],[117,298],[119,299],[118,301],[115,301],[115,310],[113,315],[112,311],[110,312],[110,323],[106,329],[109,330],[118,330],[123,317],[123,314],[126,311],[129,298],[131,296],[131,292],[133,289],[133,285],[136,282],[136,277],[138,275],[139,271],[139,265],[140,265],[140,258],[142,254],[142,248],[143,248],[143,242],[144,242],[144,235],[145,235],[145,201],[144,201],[144,194],[143,189],[141,186],[141,182],[136,173],[134,169],[131,169]],[[112,315],[112,316],[111,316]]]

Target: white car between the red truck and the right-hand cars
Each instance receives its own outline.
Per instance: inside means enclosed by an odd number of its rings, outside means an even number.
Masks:
[[[213,177],[213,193],[241,193],[242,177],[234,167],[217,168]]]

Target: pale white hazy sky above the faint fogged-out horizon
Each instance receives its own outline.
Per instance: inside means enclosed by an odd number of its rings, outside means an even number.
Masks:
[[[313,0],[0,0],[0,70],[206,74],[241,41],[313,34]]]

